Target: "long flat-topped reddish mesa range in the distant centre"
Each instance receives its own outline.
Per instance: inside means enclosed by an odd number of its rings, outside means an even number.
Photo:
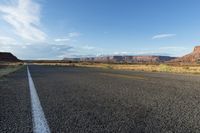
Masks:
[[[169,56],[101,56],[88,58],[64,58],[66,61],[92,61],[92,62],[112,62],[112,63],[161,63],[176,59]]]

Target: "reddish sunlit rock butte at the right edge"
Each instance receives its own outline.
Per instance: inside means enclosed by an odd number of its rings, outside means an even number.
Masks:
[[[192,53],[187,54],[181,58],[172,60],[180,64],[197,64],[200,63],[200,46],[196,46]]]

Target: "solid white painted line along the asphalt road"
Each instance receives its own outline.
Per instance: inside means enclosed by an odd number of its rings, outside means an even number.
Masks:
[[[47,120],[45,118],[40,100],[35,89],[35,85],[31,78],[29,68],[27,66],[28,81],[31,95],[31,106],[32,106],[32,119],[33,119],[33,132],[34,133],[50,133]]]

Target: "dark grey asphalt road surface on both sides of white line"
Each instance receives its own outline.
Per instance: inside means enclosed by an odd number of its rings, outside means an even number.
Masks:
[[[52,133],[200,132],[200,76],[29,66]],[[0,78],[0,132],[33,132],[26,67]]]

